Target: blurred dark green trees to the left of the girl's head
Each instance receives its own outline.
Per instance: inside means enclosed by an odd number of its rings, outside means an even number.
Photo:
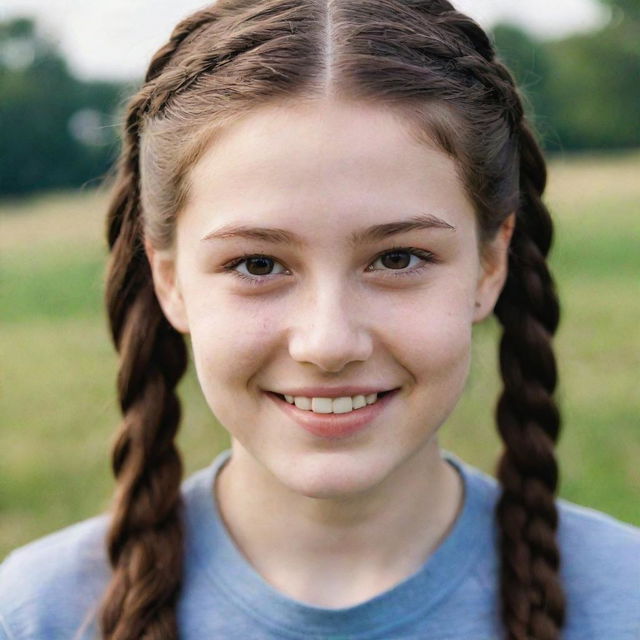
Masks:
[[[32,19],[0,23],[0,196],[99,180],[117,151],[122,89],[73,77]]]

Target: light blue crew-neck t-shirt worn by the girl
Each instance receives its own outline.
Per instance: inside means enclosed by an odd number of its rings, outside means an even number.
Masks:
[[[497,640],[499,486],[454,454],[464,504],[448,536],[413,575],[356,606],[325,609],[272,587],[241,554],[215,502],[231,450],[183,483],[181,640]],[[640,529],[558,499],[564,640],[640,639]],[[87,640],[109,577],[102,514],[27,544],[0,565],[0,639]],[[83,627],[83,621],[87,624]]]

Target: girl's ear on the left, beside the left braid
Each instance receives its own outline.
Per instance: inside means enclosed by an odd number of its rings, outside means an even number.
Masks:
[[[175,252],[154,249],[148,240],[145,240],[144,248],[151,265],[156,297],[165,317],[176,331],[189,333],[186,308],[177,278]]]

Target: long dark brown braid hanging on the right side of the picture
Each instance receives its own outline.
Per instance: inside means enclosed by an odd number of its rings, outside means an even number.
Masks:
[[[554,445],[560,415],[553,400],[556,362],[551,339],[559,304],[545,257],[552,222],[541,201],[546,169],[526,123],[520,124],[521,207],[511,244],[509,275],[495,308],[503,326],[498,430],[506,445],[497,467],[503,492],[496,506],[501,530],[503,619],[511,640],[557,640],[565,599],[554,494]]]

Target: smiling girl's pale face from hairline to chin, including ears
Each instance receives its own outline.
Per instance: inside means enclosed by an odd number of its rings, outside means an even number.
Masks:
[[[381,107],[296,104],[236,122],[189,180],[175,248],[147,252],[234,456],[297,493],[337,497],[433,451],[510,237],[505,225],[481,263],[454,161]],[[396,391],[341,437],[303,428],[303,410],[272,393],[343,386]]]

